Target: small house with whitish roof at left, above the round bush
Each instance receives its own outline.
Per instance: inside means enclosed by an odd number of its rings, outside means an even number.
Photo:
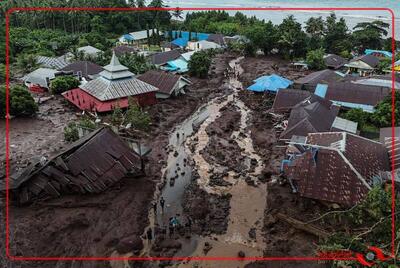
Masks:
[[[50,89],[50,81],[59,73],[55,69],[38,68],[22,77],[22,81],[32,92],[45,92]]]

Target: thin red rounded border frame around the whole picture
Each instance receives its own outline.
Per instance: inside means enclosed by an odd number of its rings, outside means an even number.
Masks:
[[[155,8],[155,7],[144,7],[144,8],[121,8],[121,7],[16,7],[10,8],[6,11],[6,114],[9,112],[9,41],[10,41],[10,15],[15,11],[173,11],[176,7],[167,7],[167,8]],[[352,11],[388,11],[392,16],[392,71],[394,70],[394,62],[395,62],[395,15],[392,9],[390,8],[354,8],[354,7],[341,7],[341,8],[236,8],[236,7],[210,7],[210,8],[180,8],[185,11],[207,11],[207,10],[224,10],[224,11],[337,11],[337,10],[352,10]],[[395,127],[395,73],[392,72],[392,137],[395,135],[394,127]],[[152,260],[247,260],[247,261],[326,261],[326,260],[358,260],[357,257],[21,257],[21,256],[12,256],[10,254],[10,234],[9,234],[9,118],[6,117],[6,256],[12,261],[114,261],[114,260],[137,260],[137,261],[152,261]],[[394,139],[392,139],[392,241],[391,241],[391,256],[395,255],[395,187],[394,187]]]

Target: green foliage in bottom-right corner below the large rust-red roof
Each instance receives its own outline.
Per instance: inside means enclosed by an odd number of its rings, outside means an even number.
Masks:
[[[376,186],[357,206],[345,212],[332,213],[324,217],[324,222],[339,224],[341,226],[340,229],[343,229],[343,231],[334,232],[321,245],[320,249],[322,251],[352,250],[359,253],[367,253],[367,247],[374,246],[390,252],[389,247],[391,246],[390,242],[392,239],[391,196],[390,187],[385,190],[380,186]],[[395,211],[399,211],[400,200],[397,199],[396,204]],[[347,230],[347,232],[344,230]],[[398,223],[396,230],[399,230]],[[399,240],[400,232],[397,232],[395,235],[395,239]],[[399,257],[397,256],[397,261]],[[390,259],[387,262],[381,262],[379,263],[379,267],[395,267],[390,266],[395,261],[396,259]],[[357,263],[335,261],[334,267],[343,267],[344,264],[355,267],[353,265]]]

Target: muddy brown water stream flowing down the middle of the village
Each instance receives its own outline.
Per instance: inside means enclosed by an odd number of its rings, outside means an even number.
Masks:
[[[229,64],[236,71],[242,73],[239,65],[241,58],[231,61]],[[168,225],[169,218],[181,215],[183,211],[182,202],[185,187],[191,181],[192,168],[199,174],[198,185],[209,193],[231,194],[230,214],[227,232],[223,235],[211,237],[192,236],[190,239],[181,239],[182,250],[176,257],[204,256],[204,243],[211,244],[212,249],[207,256],[236,257],[239,251],[243,251],[246,257],[262,256],[265,248],[262,241],[261,227],[266,202],[266,185],[258,183],[258,176],[263,170],[261,158],[255,153],[248,130],[247,122],[251,116],[250,110],[237,97],[238,91],[242,89],[242,84],[235,77],[230,77],[227,81],[231,88],[231,93],[223,97],[215,98],[200,107],[192,116],[187,118],[182,124],[178,125],[170,134],[167,165],[163,170],[163,180],[159,191],[155,194],[155,200],[159,202],[160,196],[165,199],[165,209],[161,211],[158,205],[156,215],[153,211],[149,214],[150,225]],[[225,180],[231,183],[230,186],[210,185],[210,175],[221,167],[215,163],[208,163],[202,156],[202,150],[209,143],[209,136],[206,128],[212,124],[219,116],[223,107],[228,104],[235,105],[240,112],[241,118],[239,129],[232,133],[232,138],[241,148],[241,154],[245,156],[247,169],[241,174],[229,171]],[[194,152],[189,149],[194,148]],[[251,161],[253,159],[253,161]],[[247,182],[253,181],[253,185]],[[159,204],[159,203],[158,203]],[[256,234],[250,237],[249,231],[253,229]],[[145,248],[142,256],[149,256],[151,245],[145,241]],[[192,261],[190,261],[192,262]],[[245,261],[224,262],[224,266],[244,266]],[[182,266],[187,267],[189,263],[183,262]],[[218,262],[192,262],[191,264],[202,267],[215,267],[220,265]]]

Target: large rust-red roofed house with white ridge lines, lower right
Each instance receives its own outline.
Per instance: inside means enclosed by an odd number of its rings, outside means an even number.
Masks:
[[[385,147],[376,141],[346,133],[310,133],[299,152],[288,155],[282,171],[293,192],[302,197],[353,206],[389,170]]]

